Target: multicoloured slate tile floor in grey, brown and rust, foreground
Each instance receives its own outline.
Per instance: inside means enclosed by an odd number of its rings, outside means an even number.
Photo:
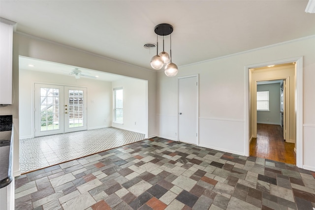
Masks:
[[[315,172],[162,138],[15,180],[16,210],[313,210]]]

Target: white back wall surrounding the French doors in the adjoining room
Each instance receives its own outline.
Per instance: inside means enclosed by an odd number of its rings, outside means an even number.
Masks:
[[[34,83],[87,88],[88,129],[111,126],[111,82],[20,69],[20,139],[34,137]]]

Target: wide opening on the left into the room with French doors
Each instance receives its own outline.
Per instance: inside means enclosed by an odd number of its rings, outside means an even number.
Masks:
[[[113,94],[119,87],[124,88],[124,112],[115,121]],[[23,172],[146,138],[147,80],[19,57],[19,163]]]

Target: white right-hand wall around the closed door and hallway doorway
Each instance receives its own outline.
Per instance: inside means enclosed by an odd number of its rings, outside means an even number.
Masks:
[[[315,36],[311,36],[180,66],[176,77],[199,74],[199,145],[244,155],[249,144],[249,133],[245,133],[245,120],[248,120],[245,119],[245,95],[249,94],[245,66],[303,56],[304,116],[300,116],[304,118],[303,167],[315,171],[314,46]],[[159,136],[176,138],[177,92],[177,78],[167,78],[160,71],[157,86]]]

